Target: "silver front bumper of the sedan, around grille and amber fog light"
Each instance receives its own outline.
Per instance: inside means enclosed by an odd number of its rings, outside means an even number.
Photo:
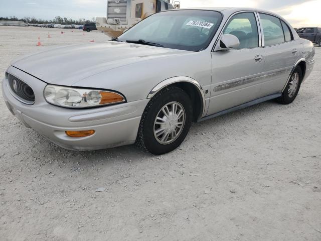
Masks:
[[[68,109],[46,102],[43,90],[47,83],[15,68],[8,73],[29,84],[35,92],[35,103],[20,102],[3,80],[3,96],[9,110],[53,143],[70,150],[96,150],[133,144],[141,114],[149,99],[89,109]],[[65,131],[95,130],[89,137],[72,138]]]

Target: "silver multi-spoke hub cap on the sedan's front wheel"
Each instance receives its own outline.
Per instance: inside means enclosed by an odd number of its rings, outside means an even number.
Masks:
[[[170,102],[158,111],[154,121],[154,137],[158,143],[174,142],[182,133],[185,110],[179,102]]]

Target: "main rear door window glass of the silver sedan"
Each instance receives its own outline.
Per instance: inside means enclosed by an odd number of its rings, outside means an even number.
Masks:
[[[264,34],[264,45],[284,43],[283,29],[278,18],[267,14],[259,14]]]

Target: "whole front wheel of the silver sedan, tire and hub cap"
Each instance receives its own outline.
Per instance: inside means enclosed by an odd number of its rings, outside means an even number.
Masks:
[[[137,145],[154,155],[173,151],[188,134],[192,115],[191,99],[183,89],[164,88],[150,99],[141,116]]]

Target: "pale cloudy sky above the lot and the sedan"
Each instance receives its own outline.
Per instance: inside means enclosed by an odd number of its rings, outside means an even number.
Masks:
[[[50,20],[56,16],[91,20],[106,15],[107,0],[3,0],[0,17],[36,17]],[[181,8],[251,7],[280,14],[293,27],[321,27],[321,0],[180,0]]]

